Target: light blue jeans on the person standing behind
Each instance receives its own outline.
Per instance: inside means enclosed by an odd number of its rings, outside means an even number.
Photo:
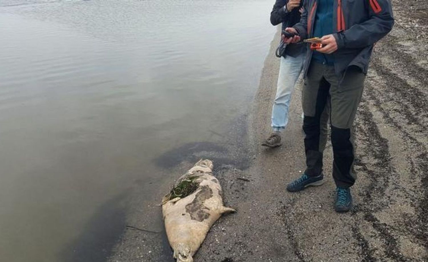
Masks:
[[[304,59],[304,53],[297,57],[281,57],[278,85],[272,108],[272,128],[274,131],[281,131],[287,126],[291,94],[299,78],[300,71],[302,71]]]

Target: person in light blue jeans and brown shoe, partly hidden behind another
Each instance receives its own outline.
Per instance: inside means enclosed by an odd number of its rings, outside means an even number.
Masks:
[[[276,26],[282,23],[282,29],[291,27],[300,21],[303,13],[303,0],[276,0],[270,13],[270,22]],[[281,39],[282,41],[282,39]],[[263,141],[262,146],[277,147],[281,145],[281,133],[288,123],[288,111],[291,94],[299,78],[305,60],[305,44],[288,44],[282,54],[279,65],[276,96],[272,107],[271,127],[272,133]],[[327,83],[328,84],[328,83]],[[327,141],[328,108],[322,117],[323,143]]]

